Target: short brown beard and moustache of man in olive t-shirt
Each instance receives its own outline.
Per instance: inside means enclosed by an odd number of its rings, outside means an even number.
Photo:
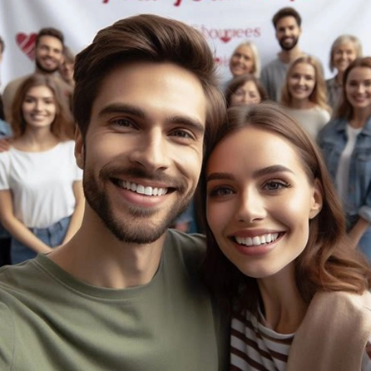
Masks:
[[[139,182],[140,179],[145,179],[146,181],[169,184],[172,188],[175,188],[174,192],[182,196],[182,198],[179,196],[179,199],[170,206],[168,213],[157,223],[146,223],[143,219],[150,218],[151,216],[155,217],[155,214],[159,212],[155,207],[125,205],[126,214],[128,215],[120,218],[114,214],[109,196],[99,187],[98,181],[93,176],[93,172],[85,170],[82,185],[87,203],[89,203],[91,209],[100,217],[109,231],[118,240],[126,243],[143,245],[158,240],[166,232],[166,229],[172,225],[175,218],[186,210],[194,193],[194,189],[187,192],[187,182],[185,179],[174,179],[163,174],[153,175],[140,168],[102,168],[99,173],[99,181],[102,184],[111,182],[111,179],[118,178],[120,175],[121,178],[128,175],[130,178],[133,177]]]

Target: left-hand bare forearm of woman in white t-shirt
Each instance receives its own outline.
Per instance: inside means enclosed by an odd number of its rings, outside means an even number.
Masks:
[[[28,229],[13,212],[12,192],[10,190],[0,190],[0,222],[8,232],[30,249],[41,253],[48,253],[52,248],[45,245]]]

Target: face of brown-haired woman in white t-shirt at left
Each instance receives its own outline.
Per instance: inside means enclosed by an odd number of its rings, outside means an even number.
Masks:
[[[32,87],[22,103],[22,113],[29,126],[42,128],[52,125],[56,117],[54,93],[45,85]]]

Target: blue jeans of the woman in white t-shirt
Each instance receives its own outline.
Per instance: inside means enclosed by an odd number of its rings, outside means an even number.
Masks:
[[[50,227],[29,229],[38,239],[42,240],[43,243],[49,247],[56,247],[63,243],[70,221],[71,216],[67,216],[53,225],[50,225]],[[23,245],[19,240],[12,238],[12,245],[10,247],[10,258],[12,264],[18,264],[19,262],[35,258],[36,255],[36,251]]]

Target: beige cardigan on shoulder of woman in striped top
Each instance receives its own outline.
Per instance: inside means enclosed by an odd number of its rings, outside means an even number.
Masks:
[[[287,371],[359,371],[371,337],[371,294],[317,293],[289,352]]]

